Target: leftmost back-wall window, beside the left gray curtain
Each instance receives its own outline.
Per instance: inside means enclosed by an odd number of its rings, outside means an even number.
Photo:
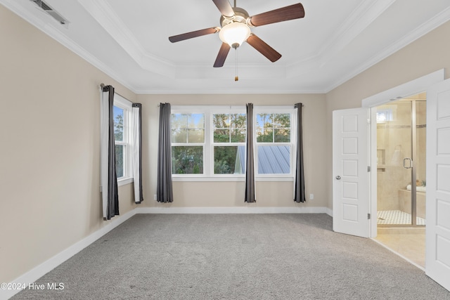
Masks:
[[[205,114],[172,114],[172,174],[203,174]]]

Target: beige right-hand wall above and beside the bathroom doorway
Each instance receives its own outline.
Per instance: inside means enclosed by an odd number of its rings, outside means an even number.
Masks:
[[[446,71],[446,78],[448,78],[450,70],[449,36],[450,22],[446,22],[326,94],[326,119],[328,122],[326,128],[326,163],[328,166],[332,164],[333,154],[333,110],[361,107],[361,100],[364,98],[443,68]],[[327,206],[332,208],[333,174],[331,168],[327,169],[326,178],[326,186],[328,187]]]

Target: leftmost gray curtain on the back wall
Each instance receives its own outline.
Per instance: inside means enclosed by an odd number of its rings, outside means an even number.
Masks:
[[[158,202],[173,202],[172,149],[170,137],[170,103],[160,103],[160,135],[158,138],[158,178],[156,199]]]

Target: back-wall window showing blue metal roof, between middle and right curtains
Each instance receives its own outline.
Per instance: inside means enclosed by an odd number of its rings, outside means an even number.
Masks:
[[[292,116],[292,112],[257,111],[255,122],[257,174],[292,174]]]

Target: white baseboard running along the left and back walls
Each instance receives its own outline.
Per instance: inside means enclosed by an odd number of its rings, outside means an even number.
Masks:
[[[327,207],[250,207],[250,205],[248,207],[137,207],[127,212],[127,214],[113,219],[108,225],[84,237],[84,239],[63,250],[63,252],[56,254],[51,259],[44,261],[39,266],[32,268],[32,270],[12,282],[25,283],[27,287],[29,283],[33,283],[46,273],[49,273],[53,268],[67,261],[70,257],[82,251],[82,249],[88,247],[135,214],[328,214],[333,216],[333,211]],[[0,289],[0,300],[9,299],[18,292],[20,290]]]

